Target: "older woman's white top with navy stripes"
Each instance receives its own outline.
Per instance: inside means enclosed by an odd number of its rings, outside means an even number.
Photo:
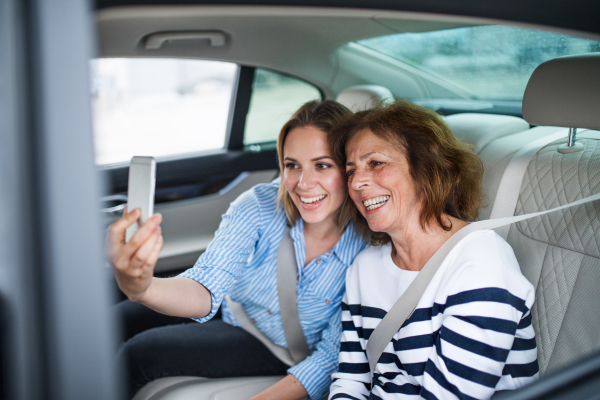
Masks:
[[[356,257],[346,278],[331,400],[489,399],[537,378],[534,288],[508,243],[493,231],[478,231],[440,265],[385,348],[371,391],[369,337],[416,274],[394,264],[391,245]]]

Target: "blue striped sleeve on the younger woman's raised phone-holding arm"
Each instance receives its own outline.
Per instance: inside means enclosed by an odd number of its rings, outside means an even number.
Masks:
[[[199,282],[211,293],[211,311],[196,319],[198,322],[208,321],[215,315],[254,253],[263,232],[257,190],[254,187],[231,203],[206,251],[192,268],[179,275]]]

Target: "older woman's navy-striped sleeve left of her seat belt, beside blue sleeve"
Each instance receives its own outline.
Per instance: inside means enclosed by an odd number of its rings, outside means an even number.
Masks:
[[[329,399],[364,400],[371,392],[369,360],[364,339],[354,323],[347,293],[342,301],[342,335],[339,354],[339,370],[334,373]],[[355,318],[360,319],[360,315]],[[360,327],[362,328],[362,326]],[[362,330],[362,329],[361,329]]]

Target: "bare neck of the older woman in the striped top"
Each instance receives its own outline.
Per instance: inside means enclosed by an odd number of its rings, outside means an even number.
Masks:
[[[450,221],[452,229],[445,231],[435,221],[422,229],[420,222],[413,221],[391,233],[394,263],[401,269],[420,271],[446,240],[467,225],[466,222],[445,214],[442,215],[442,220]]]

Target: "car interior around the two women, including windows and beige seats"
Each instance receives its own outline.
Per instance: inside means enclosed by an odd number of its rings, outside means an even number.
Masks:
[[[229,204],[277,178],[279,129],[314,99],[438,112],[482,159],[479,220],[542,138],[514,215],[600,193],[596,3],[2,2],[0,397],[124,398],[101,242],[133,155],[157,159],[157,276],[192,267]],[[536,290],[540,380],[494,400],[600,399],[600,201],[507,233]],[[135,400],[246,399],[279,379],[162,378]]]

